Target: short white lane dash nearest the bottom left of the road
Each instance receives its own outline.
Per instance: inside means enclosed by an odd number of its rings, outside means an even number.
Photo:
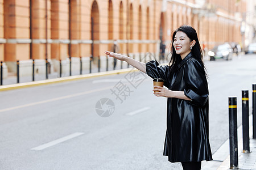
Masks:
[[[45,143],[44,145],[40,145],[38,147],[31,148],[31,150],[36,150],[36,151],[44,150],[45,148],[51,147],[53,145],[57,145],[57,144],[59,144],[61,142],[65,142],[65,141],[68,141],[68,140],[70,140],[72,138],[79,137],[82,134],[84,134],[84,133],[81,133],[81,132],[73,133],[73,134],[67,135],[67,136],[65,136],[63,138],[56,139],[55,141]]]

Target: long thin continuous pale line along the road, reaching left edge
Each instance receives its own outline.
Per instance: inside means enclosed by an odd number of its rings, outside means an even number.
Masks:
[[[107,90],[107,89],[110,89],[110,88],[113,88],[113,86],[99,88],[99,89],[85,91],[85,92],[80,92],[80,93],[77,93],[77,94],[72,94],[72,95],[67,95],[67,96],[56,97],[56,98],[53,98],[53,99],[48,99],[48,100],[43,100],[43,101],[37,101],[37,102],[34,102],[34,103],[29,103],[29,104],[18,105],[16,107],[1,109],[0,112],[6,112],[6,111],[14,110],[14,109],[30,107],[32,105],[38,105],[38,104],[48,103],[48,102],[51,102],[51,101],[57,101],[57,100],[68,99],[68,98],[71,98],[71,97],[82,96],[82,95],[90,94],[92,92],[98,92],[98,91]]]

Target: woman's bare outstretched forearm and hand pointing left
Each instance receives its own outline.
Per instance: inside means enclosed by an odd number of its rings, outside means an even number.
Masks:
[[[109,52],[109,51],[105,51],[105,54],[108,55],[109,57],[113,57],[113,58],[117,58],[121,61],[125,61],[125,62],[129,63],[129,65],[132,65],[136,69],[142,71],[143,73],[146,73],[146,64],[143,62],[137,61],[136,59],[133,59],[133,58],[130,58],[127,56],[123,56],[122,54],[113,53],[113,52]]]

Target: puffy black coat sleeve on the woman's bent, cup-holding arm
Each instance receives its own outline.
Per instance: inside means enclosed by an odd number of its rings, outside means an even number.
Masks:
[[[204,67],[195,58],[190,58],[184,71],[185,96],[191,99],[190,104],[204,107],[209,95]]]

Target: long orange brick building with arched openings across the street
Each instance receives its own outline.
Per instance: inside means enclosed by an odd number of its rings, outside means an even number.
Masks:
[[[46,58],[53,71],[60,61],[68,68],[69,57],[76,69],[80,57],[104,61],[115,39],[120,53],[158,54],[160,39],[170,43],[182,24],[192,25],[208,48],[241,42],[245,11],[246,0],[0,0],[0,61],[5,76],[15,73],[17,60],[24,75],[32,59],[38,73],[46,71]]]

